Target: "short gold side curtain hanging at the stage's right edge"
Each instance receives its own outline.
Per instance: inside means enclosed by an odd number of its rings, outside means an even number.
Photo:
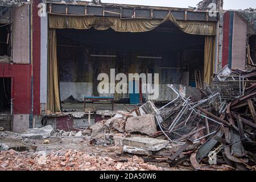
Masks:
[[[205,36],[204,44],[204,82],[209,84],[215,63],[215,36]]]

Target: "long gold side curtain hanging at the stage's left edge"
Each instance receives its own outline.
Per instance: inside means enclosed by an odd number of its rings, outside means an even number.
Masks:
[[[61,111],[59,75],[57,66],[57,40],[56,30],[49,28],[48,31],[48,102],[47,111],[51,113]]]

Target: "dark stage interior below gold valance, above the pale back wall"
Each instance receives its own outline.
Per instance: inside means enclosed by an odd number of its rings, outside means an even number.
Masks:
[[[195,86],[195,70],[203,75],[204,39],[204,36],[184,33],[171,22],[139,33],[115,32],[111,28],[105,31],[58,29],[60,82],[92,82],[92,94],[98,96],[98,74],[109,74],[113,68],[116,73],[125,74],[159,73],[160,84]],[[189,72],[187,84],[182,82],[184,72]]]

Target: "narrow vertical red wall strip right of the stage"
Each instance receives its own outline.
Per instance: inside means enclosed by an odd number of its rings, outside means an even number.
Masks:
[[[228,64],[228,59],[229,59],[229,19],[230,19],[230,13],[229,11],[227,11],[224,14],[222,68]]]

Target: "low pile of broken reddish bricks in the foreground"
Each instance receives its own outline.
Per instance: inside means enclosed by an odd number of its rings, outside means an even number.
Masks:
[[[46,171],[158,171],[156,166],[144,163],[142,158],[133,156],[125,161],[115,161],[109,157],[94,156],[76,150],[60,150],[50,154],[27,153],[14,150],[0,152],[0,171],[46,170]]]

